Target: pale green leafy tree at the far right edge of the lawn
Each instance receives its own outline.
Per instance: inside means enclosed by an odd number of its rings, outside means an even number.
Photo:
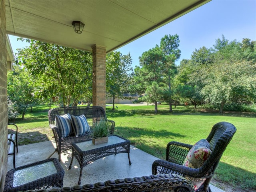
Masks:
[[[232,102],[254,102],[255,64],[244,57],[246,51],[247,54],[248,50],[254,51],[250,41],[229,42],[222,36],[222,40],[216,40],[214,48],[212,66],[201,69],[205,77],[201,87],[205,102],[218,106],[220,113],[226,104]]]

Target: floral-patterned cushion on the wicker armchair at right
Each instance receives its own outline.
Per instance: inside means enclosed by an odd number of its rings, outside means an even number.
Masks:
[[[201,139],[189,150],[183,166],[191,168],[200,168],[202,164],[208,159],[212,151],[210,150],[210,144],[206,139]],[[194,189],[197,190],[206,180],[205,178],[193,178],[185,176],[187,179],[191,180]]]

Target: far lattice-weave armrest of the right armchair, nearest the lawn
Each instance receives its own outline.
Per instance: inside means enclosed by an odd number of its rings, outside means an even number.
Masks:
[[[192,146],[175,141],[169,142],[166,147],[166,161],[182,165]]]

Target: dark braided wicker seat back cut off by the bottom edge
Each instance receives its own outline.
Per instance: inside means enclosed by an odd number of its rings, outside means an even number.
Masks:
[[[159,174],[135,178],[108,180],[83,186],[37,190],[37,192],[194,192],[193,185],[184,177],[174,174]],[[34,192],[28,190],[27,192]]]

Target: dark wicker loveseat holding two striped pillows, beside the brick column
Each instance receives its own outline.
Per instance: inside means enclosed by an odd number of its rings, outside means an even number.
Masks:
[[[50,128],[52,128],[52,132],[56,142],[56,151],[58,152],[58,155],[59,155],[59,161],[61,161],[60,154],[66,150],[71,149],[72,143],[91,139],[90,132],[80,136],[71,134],[65,138],[60,137],[60,130],[56,126],[55,118],[56,118],[56,115],[64,115],[67,113],[74,116],[84,115],[90,127],[92,127],[95,122],[104,119],[108,124],[110,134],[114,133],[115,122],[107,119],[105,110],[100,106],[59,107],[59,108],[53,108],[49,110],[48,120],[49,120]]]

